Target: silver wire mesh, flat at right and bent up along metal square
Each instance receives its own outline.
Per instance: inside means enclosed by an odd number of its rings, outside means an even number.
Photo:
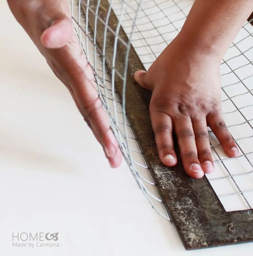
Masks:
[[[164,218],[169,217],[150,175],[141,147],[136,140],[122,101],[115,91],[115,76],[123,85],[128,79],[127,67],[132,45],[146,70],[182,28],[193,0],[108,0],[107,17],[99,15],[99,4],[90,8],[89,0],[72,0],[74,31],[80,47],[94,71],[99,97],[107,111],[111,128],[119,142],[123,156],[137,183],[151,205]],[[86,7],[86,12],[81,8]],[[116,30],[109,25],[112,10],[118,18]],[[95,16],[94,28],[89,27],[89,12]],[[98,22],[99,21],[99,22]],[[98,46],[97,25],[104,26],[104,41]],[[119,35],[120,26],[128,40]],[[109,72],[106,38],[114,35],[112,61]],[[125,48],[124,72],[115,67],[117,46]],[[212,157],[216,171],[206,175],[226,211],[251,209],[253,206],[253,26],[245,22],[221,63],[222,113],[240,156],[228,158],[213,133],[209,130]]]

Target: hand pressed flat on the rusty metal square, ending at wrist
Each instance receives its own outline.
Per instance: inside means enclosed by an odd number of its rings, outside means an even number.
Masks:
[[[159,157],[165,165],[177,163],[173,130],[185,171],[191,177],[201,178],[214,170],[207,126],[229,157],[238,156],[221,114],[219,58],[176,38],[147,72],[136,71],[134,78],[153,91],[150,116]]]

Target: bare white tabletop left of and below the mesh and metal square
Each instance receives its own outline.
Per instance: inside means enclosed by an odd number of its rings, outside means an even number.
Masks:
[[[126,163],[109,167],[6,1],[0,20],[0,255],[251,254],[253,243],[186,251]],[[59,247],[15,248],[12,232],[59,232]]]

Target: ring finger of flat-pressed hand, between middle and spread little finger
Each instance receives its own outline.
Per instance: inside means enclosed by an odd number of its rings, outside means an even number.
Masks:
[[[198,118],[193,118],[191,121],[202,170],[205,173],[211,173],[214,171],[214,165],[207,131],[206,116],[198,116]]]

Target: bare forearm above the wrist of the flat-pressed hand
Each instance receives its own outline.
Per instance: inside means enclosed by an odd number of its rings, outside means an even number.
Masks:
[[[252,11],[252,0],[196,0],[178,38],[221,60]]]

